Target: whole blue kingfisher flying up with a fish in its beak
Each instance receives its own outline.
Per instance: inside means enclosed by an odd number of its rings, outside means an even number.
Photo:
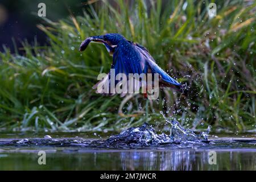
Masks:
[[[131,42],[127,40],[121,34],[110,33],[105,35],[90,36],[86,38],[79,48],[82,52],[88,47],[90,42],[102,43],[108,50],[110,56],[113,56],[113,63],[111,68],[114,69],[114,74],[124,73],[129,76],[129,73],[158,73],[159,75],[159,86],[174,88],[180,92],[184,92],[185,85],[176,81],[174,78],[169,76],[163,71],[156,63],[154,58],[150,55],[148,50],[138,43]],[[96,89],[99,84],[104,84],[103,82],[109,81],[110,73],[101,81],[97,82],[93,86]],[[115,85],[117,82],[115,82]],[[125,94],[121,94],[124,96]],[[144,98],[147,98],[147,92],[143,93]]]

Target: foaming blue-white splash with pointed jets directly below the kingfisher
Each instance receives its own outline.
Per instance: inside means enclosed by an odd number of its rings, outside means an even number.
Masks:
[[[131,127],[118,135],[111,136],[106,140],[106,146],[150,146],[170,143],[209,142],[210,126],[206,132],[196,135],[191,129],[184,129],[175,119],[168,119],[162,111],[160,113],[166,122],[171,124],[170,135],[157,134],[153,127],[144,123],[141,127]]]

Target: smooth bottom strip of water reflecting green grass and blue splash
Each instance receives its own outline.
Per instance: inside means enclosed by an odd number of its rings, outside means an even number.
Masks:
[[[120,151],[47,153],[38,164],[37,152],[0,155],[1,170],[255,170],[255,151],[217,152],[217,164],[208,163],[208,151]]]

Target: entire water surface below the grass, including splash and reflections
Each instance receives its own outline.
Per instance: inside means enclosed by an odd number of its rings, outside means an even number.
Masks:
[[[88,138],[81,133],[77,134],[80,137],[5,135],[0,139],[0,170],[256,170],[255,135],[209,137],[210,127],[197,135],[165,119],[171,125],[170,134],[157,134],[144,123],[108,138]],[[38,164],[39,151],[46,152],[46,165]],[[216,164],[209,162],[212,152]]]

